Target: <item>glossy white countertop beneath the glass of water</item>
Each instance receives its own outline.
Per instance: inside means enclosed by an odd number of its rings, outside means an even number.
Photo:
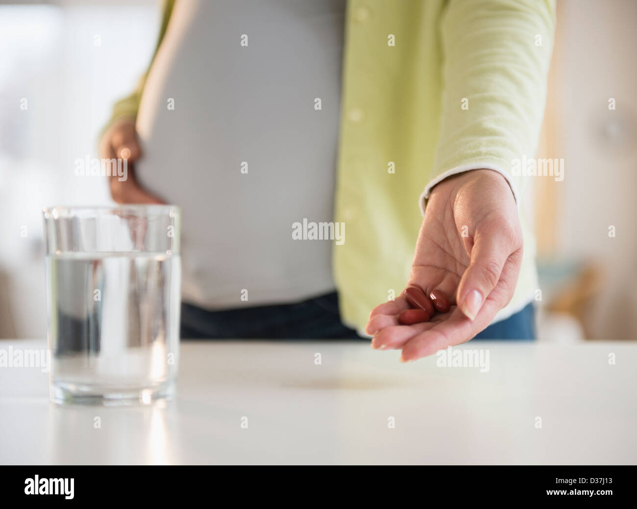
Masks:
[[[0,368],[0,463],[637,463],[636,344],[462,348],[489,371],[364,341],[183,341],[164,408],[54,405],[48,373]]]

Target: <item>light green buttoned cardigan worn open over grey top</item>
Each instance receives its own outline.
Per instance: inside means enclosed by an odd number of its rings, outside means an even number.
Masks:
[[[347,234],[333,247],[346,324],[362,331],[371,308],[403,289],[429,189],[476,168],[508,180],[524,233],[515,295],[496,320],[533,298],[529,177],[512,168],[536,151],[554,27],[554,0],[348,1],[334,210]],[[136,115],[145,80],[111,122]]]

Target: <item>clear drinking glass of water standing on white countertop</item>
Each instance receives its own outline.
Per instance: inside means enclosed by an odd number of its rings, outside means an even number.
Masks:
[[[175,391],[180,209],[45,208],[55,403],[152,403]]]

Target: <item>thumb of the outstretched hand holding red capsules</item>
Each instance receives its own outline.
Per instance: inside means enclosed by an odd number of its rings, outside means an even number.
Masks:
[[[476,233],[471,248],[471,262],[458,286],[457,304],[469,319],[475,319],[485,299],[496,287],[509,255],[512,243],[509,236],[497,228]],[[513,296],[515,285],[510,289]],[[508,302],[508,301],[507,301]]]

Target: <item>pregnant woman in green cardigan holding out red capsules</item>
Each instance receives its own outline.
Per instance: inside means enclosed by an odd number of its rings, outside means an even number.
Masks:
[[[182,337],[369,334],[403,361],[533,338],[512,165],[554,22],[537,0],[167,2],[101,153],[133,167],[115,201],[182,207]],[[450,310],[399,323],[406,286]]]

